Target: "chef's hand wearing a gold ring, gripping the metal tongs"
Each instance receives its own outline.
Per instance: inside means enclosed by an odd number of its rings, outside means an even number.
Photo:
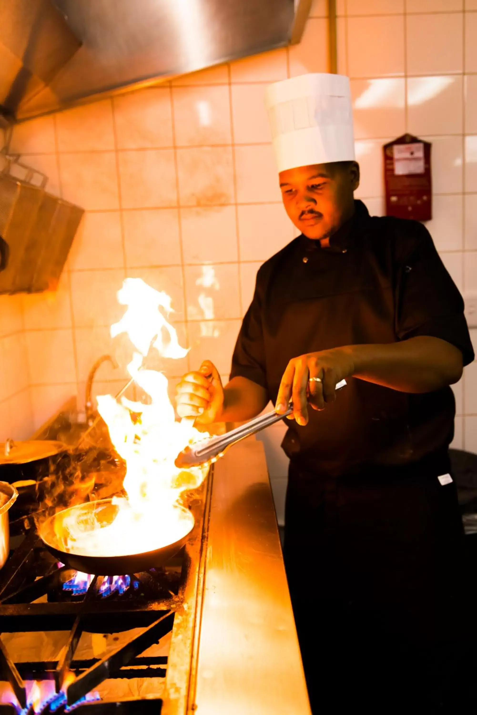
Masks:
[[[335,386],[353,375],[355,366],[350,352],[345,348],[308,352],[288,363],[278,390],[275,410],[285,413],[292,400],[293,413],[289,419],[299,425],[308,423],[308,403],[314,410],[323,410],[325,403],[336,399]],[[320,378],[321,382],[310,382],[310,378]]]

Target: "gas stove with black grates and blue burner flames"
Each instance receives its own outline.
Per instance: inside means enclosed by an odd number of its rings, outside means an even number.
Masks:
[[[93,576],[58,563],[31,528],[0,571],[0,715],[179,715],[194,678],[212,473],[167,565]]]

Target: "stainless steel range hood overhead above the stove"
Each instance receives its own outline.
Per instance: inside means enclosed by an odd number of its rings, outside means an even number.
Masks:
[[[48,82],[21,96],[16,91],[15,102],[4,104],[4,114],[13,114],[16,121],[295,43],[300,41],[311,4],[311,0],[0,0],[6,14],[21,4],[37,10],[36,16],[30,12],[13,28],[19,35],[16,45],[22,49],[17,56],[23,62],[37,41],[42,14],[54,10],[51,2],[64,22],[61,27],[56,22],[41,37],[49,38],[51,56],[56,53],[57,61]],[[7,32],[0,23],[0,48],[11,45]],[[61,54],[56,49],[60,36]],[[34,74],[34,68],[30,71]],[[18,74],[4,74],[0,68],[0,89],[1,84],[18,84]],[[2,94],[9,97],[5,89]]]

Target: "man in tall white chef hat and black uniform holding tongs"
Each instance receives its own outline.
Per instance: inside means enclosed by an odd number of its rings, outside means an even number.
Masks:
[[[348,77],[277,82],[267,109],[300,236],[257,273],[230,382],[206,361],[177,411],[238,422],[292,400],[284,556],[313,712],[456,713],[474,677],[448,457],[463,300],[426,227],[353,199]]]

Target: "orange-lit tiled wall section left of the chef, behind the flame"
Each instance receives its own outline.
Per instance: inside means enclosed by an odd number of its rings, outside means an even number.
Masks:
[[[11,148],[44,169],[52,192],[86,209],[59,290],[21,299],[35,427],[71,394],[84,403],[87,373],[105,352],[120,366],[102,365],[97,381],[121,385],[130,353],[108,327],[121,315],[126,276],[172,296],[190,353],[166,361],[171,381],[204,358],[227,375],[257,267],[294,235],[265,85],[290,76],[291,64],[325,71],[324,6],[315,4],[293,59],[273,51],[16,127]]]

